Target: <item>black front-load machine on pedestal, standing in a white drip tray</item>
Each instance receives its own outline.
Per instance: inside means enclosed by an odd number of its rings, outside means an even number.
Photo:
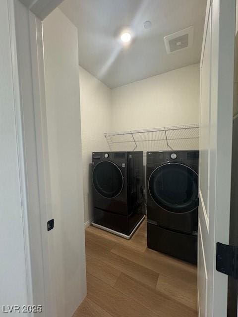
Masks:
[[[93,152],[93,225],[130,238],[144,218],[143,152]]]

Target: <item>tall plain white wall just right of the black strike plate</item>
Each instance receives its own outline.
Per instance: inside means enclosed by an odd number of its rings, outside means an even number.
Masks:
[[[59,9],[43,35],[57,316],[71,317],[86,295],[78,37]]]

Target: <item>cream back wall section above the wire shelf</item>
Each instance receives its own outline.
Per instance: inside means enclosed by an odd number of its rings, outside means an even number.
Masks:
[[[199,64],[112,90],[112,130],[136,130],[199,121]]]

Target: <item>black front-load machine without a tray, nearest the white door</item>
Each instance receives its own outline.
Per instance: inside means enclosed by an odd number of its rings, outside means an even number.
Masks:
[[[148,248],[197,262],[198,151],[147,152]]]

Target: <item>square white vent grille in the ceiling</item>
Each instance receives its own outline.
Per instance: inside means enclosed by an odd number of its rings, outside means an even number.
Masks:
[[[188,49],[193,42],[193,26],[164,37],[167,54]]]

